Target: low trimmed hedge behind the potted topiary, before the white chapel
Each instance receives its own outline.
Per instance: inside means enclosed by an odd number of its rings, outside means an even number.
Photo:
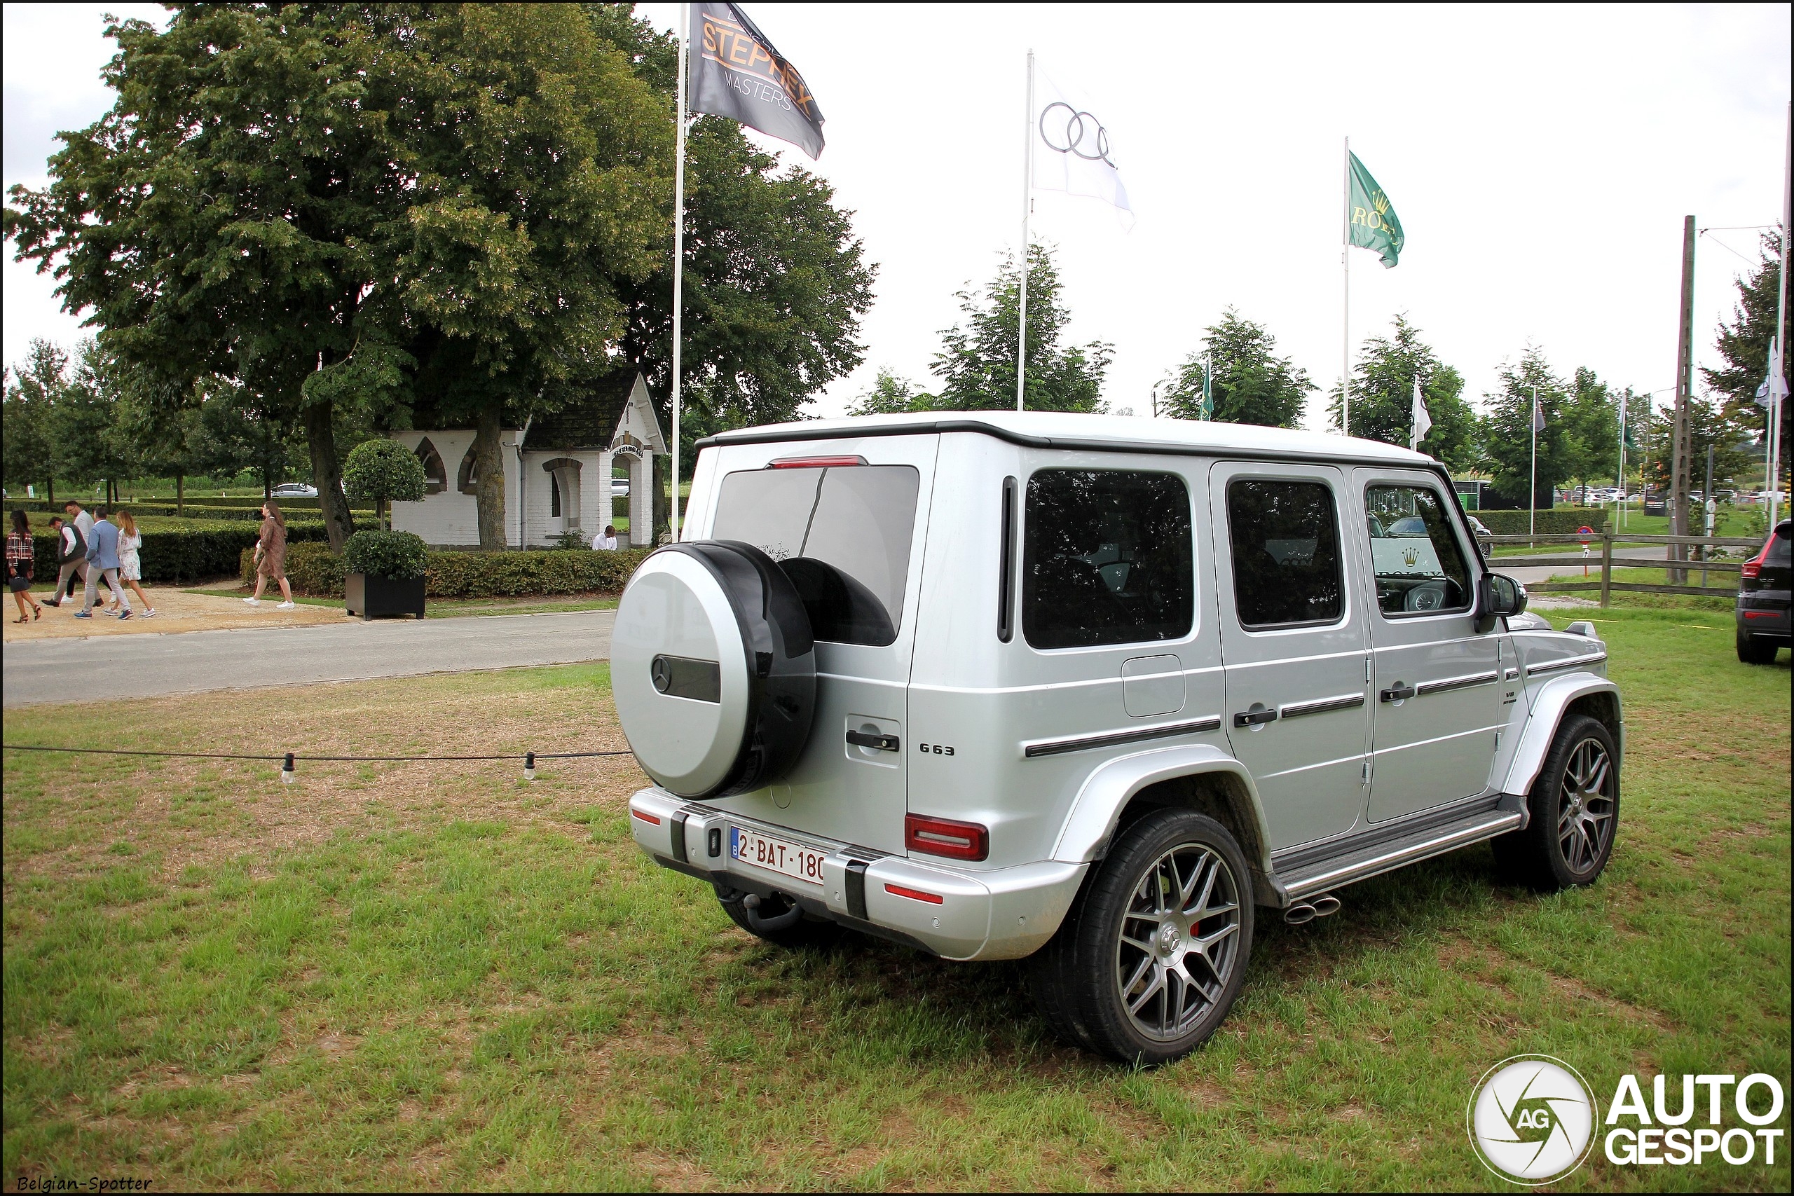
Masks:
[[[429,552],[423,594],[434,599],[524,597],[545,594],[614,594],[621,590],[648,549],[592,552]],[[239,574],[255,583],[253,547],[242,552]],[[294,594],[343,597],[343,558],[323,543],[287,549],[287,581]]]

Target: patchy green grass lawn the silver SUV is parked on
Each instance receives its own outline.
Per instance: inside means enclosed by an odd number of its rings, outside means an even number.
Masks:
[[[1559,622],[1579,611],[1552,613]],[[5,1176],[185,1187],[1489,1189],[1516,1053],[1789,1083],[1789,665],[1607,610],[1618,850],[1555,897],[1487,848],[1261,922],[1232,1018],[1152,1072],[1055,1044],[1017,965],[761,945],[644,861],[628,758],[5,755]],[[621,746],[603,667],[11,710],[7,742]],[[1674,1097],[1672,1097],[1674,1103]],[[1704,1108],[1704,1103],[1703,1103]],[[1735,1117],[1728,1124],[1738,1124]],[[1780,1124],[1789,1124],[1783,1112]],[[1787,1191],[1776,1164],[1564,1189]],[[1758,1160],[1762,1155],[1758,1155]],[[1500,1185],[1507,1187],[1507,1185]],[[1512,1189],[1509,1189],[1512,1191]]]

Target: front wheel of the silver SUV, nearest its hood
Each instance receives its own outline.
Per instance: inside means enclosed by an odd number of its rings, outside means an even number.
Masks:
[[[1620,830],[1620,753],[1598,719],[1563,721],[1527,807],[1525,830],[1489,843],[1502,873],[1539,893],[1593,884]]]

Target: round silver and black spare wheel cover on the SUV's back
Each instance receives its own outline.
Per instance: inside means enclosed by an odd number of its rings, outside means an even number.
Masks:
[[[759,549],[667,545],[617,602],[610,685],[630,750],[662,789],[714,798],[771,784],[814,715],[809,617]]]

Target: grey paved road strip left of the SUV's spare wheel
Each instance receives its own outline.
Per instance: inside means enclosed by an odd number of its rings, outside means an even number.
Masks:
[[[610,660],[617,611],[109,635],[5,649],[5,705]]]

